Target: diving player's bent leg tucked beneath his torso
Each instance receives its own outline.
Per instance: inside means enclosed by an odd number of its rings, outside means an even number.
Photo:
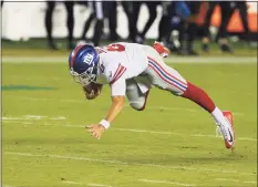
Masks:
[[[149,90],[142,93],[134,79],[126,80],[126,97],[134,110],[143,111],[145,108],[148,92]]]

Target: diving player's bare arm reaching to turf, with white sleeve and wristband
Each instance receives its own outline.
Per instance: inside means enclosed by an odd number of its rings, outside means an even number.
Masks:
[[[101,138],[103,132],[107,129],[111,123],[117,117],[117,115],[123,111],[124,107],[124,97],[126,83],[124,79],[118,79],[115,82],[111,82],[111,92],[112,92],[112,104],[109,108],[106,116],[99,124],[93,124],[86,126],[87,132],[97,139]]]

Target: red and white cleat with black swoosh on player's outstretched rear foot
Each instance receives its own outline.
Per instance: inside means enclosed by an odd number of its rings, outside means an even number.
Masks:
[[[233,126],[233,113],[229,111],[223,112],[225,121],[219,125],[220,133],[224,137],[225,146],[233,148],[235,144],[235,129]]]

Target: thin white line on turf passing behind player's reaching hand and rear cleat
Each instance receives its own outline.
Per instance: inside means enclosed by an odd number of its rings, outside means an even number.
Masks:
[[[16,117],[13,117],[16,118]],[[28,123],[28,122],[19,122],[19,121],[2,121],[3,124],[28,124],[28,125],[33,125],[33,123]],[[40,126],[63,126],[63,127],[75,127],[75,128],[84,128],[85,126],[83,125],[59,125],[59,124],[39,124]],[[208,135],[208,134],[182,134],[182,133],[175,133],[175,132],[159,132],[159,131],[149,131],[149,129],[135,129],[135,128],[116,128],[112,127],[114,131],[120,131],[120,132],[132,132],[132,133],[149,133],[149,134],[163,134],[163,135],[174,135],[174,136],[189,136],[189,137],[210,137],[210,138],[221,138],[220,136],[216,135]],[[250,142],[257,142],[257,138],[251,138],[251,137],[237,137],[237,141],[250,141]]]

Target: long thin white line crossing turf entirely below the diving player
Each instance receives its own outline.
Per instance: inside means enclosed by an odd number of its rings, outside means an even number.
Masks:
[[[3,152],[6,155],[16,155],[16,156],[28,156],[28,157],[47,157],[47,158],[54,158],[54,159],[74,159],[74,160],[84,160],[90,163],[106,163],[106,164],[120,164],[120,165],[127,165],[127,166],[140,166],[140,167],[152,167],[152,168],[165,168],[165,169],[184,169],[184,170],[194,170],[194,172],[213,172],[213,173],[225,173],[225,174],[236,174],[236,175],[250,175],[256,176],[252,173],[241,173],[239,170],[227,170],[227,169],[213,169],[213,168],[202,168],[202,167],[187,167],[187,166],[173,166],[173,165],[158,165],[158,164],[148,164],[148,163],[127,163],[123,160],[116,159],[97,159],[97,158],[87,158],[87,157],[78,157],[78,156],[65,156],[65,155],[49,155],[49,154],[31,154],[31,153],[18,153],[18,152]]]

